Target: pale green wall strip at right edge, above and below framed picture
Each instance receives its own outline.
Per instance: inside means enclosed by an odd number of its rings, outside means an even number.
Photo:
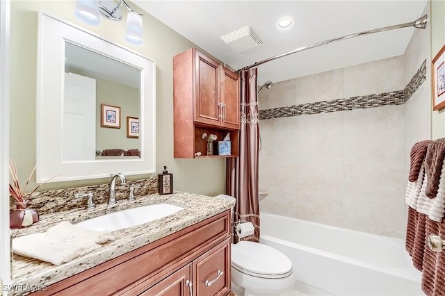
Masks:
[[[431,3],[431,59],[445,45],[445,1],[432,0]],[[432,111],[432,139],[445,137],[445,109]]]

